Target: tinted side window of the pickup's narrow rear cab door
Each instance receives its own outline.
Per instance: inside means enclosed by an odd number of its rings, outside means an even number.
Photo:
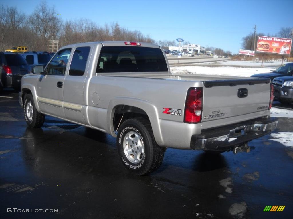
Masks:
[[[84,46],[78,47],[73,53],[69,75],[83,76],[86,70],[86,62],[90,53],[91,47]]]

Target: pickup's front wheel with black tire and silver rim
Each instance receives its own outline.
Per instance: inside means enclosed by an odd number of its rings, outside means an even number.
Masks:
[[[29,109],[28,109],[29,108]],[[23,103],[23,110],[24,110],[24,118],[28,127],[30,128],[40,128],[43,126],[45,122],[45,115],[39,113],[35,107],[35,102],[33,96],[31,94],[26,94],[24,96],[24,103]],[[27,111],[32,111],[32,116],[28,116]]]

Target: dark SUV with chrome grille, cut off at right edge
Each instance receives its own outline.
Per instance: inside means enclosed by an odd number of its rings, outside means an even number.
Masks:
[[[284,104],[293,102],[293,76],[276,77],[272,85],[275,99]]]

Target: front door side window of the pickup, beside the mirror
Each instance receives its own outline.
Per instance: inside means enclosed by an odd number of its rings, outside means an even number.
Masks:
[[[46,73],[49,75],[64,75],[71,48],[66,48],[55,54],[49,63]]]

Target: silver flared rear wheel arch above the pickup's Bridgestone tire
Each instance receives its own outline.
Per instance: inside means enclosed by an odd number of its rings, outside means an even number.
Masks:
[[[147,119],[151,124],[157,144],[163,146],[158,111],[151,102],[128,97],[117,97],[111,100],[108,107],[107,121],[108,130],[110,130],[110,133],[114,137],[116,137],[115,131],[117,130],[117,124],[120,123],[123,114],[123,117],[126,119],[135,117],[143,117]]]

